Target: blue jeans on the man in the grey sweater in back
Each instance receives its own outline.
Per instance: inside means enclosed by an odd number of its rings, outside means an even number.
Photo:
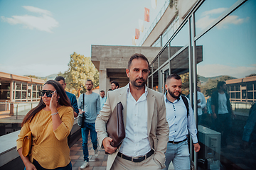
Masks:
[[[82,152],[84,155],[84,160],[89,161],[88,153],[88,135],[90,130],[90,137],[92,140],[93,149],[97,149],[97,132],[95,130],[95,123],[85,123],[84,128],[81,129],[82,132]]]

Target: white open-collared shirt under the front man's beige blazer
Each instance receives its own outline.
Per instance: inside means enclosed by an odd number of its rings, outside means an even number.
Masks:
[[[145,86],[145,93],[140,96],[138,101],[135,101],[128,85],[125,138],[119,152],[129,157],[144,156],[151,150],[147,135],[147,93]]]

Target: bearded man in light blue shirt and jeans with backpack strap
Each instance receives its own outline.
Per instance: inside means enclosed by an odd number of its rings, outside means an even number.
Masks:
[[[181,77],[178,74],[171,74],[166,78],[166,118],[169,123],[169,142],[166,150],[165,169],[167,170],[171,161],[174,169],[190,169],[190,159],[188,150],[188,131],[193,140],[194,150],[198,152],[200,145],[196,137],[196,122],[193,115],[193,109],[188,98],[189,113],[186,104],[181,96]]]

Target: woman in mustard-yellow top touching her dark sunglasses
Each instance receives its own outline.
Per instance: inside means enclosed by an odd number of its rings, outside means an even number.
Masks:
[[[63,87],[49,80],[39,91],[41,100],[23,119],[18,135],[17,150],[26,170],[71,170],[68,135],[73,127],[74,114]],[[31,155],[22,154],[23,137],[32,132]]]

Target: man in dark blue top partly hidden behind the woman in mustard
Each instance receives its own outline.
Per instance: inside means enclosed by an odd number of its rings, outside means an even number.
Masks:
[[[61,76],[55,77],[55,81],[58,81],[61,84],[61,86],[63,86],[63,89],[65,90],[65,87],[67,84],[65,83],[64,77],[61,77]],[[67,94],[68,98],[70,99],[71,106],[73,106],[73,108],[74,108],[74,117],[76,118],[76,117],[78,117],[78,113],[79,113],[78,101],[74,94],[71,94],[68,91],[65,91],[65,93]]]

